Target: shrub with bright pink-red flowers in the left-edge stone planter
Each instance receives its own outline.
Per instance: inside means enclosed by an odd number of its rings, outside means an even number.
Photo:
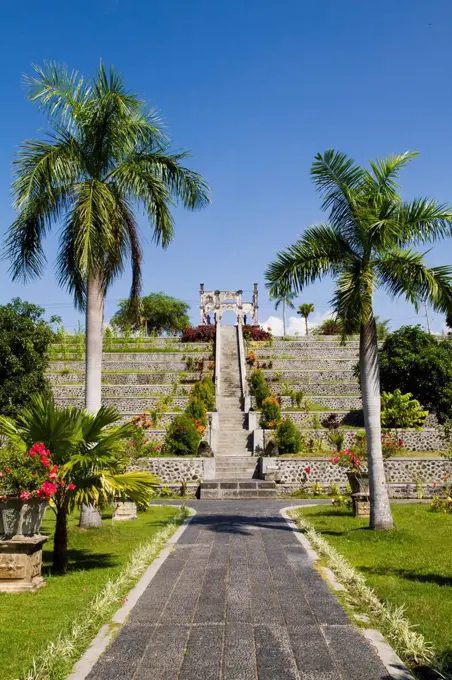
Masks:
[[[50,451],[40,443],[33,444],[28,452],[11,445],[0,449],[0,498],[49,500],[58,489],[75,489],[74,484],[66,484],[51,458]]]

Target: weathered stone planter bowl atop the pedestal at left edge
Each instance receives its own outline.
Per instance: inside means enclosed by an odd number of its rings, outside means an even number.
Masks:
[[[40,498],[25,502],[19,498],[0,501],[0,539],[37,536],[47,505],[48,501]]]

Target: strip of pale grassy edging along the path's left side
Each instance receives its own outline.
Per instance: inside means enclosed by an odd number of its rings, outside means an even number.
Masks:
[[[138,546],[119,575],[107,581],[83,614],[74,619],[69,632],[58,635],[33,659],[22,680],[66,678],[101,626],[119,608],[121,600],[137,583],[188,514],[187,508],[183,506],[149,543]]]

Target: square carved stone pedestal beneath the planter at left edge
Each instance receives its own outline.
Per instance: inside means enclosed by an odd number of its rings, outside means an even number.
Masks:
[[[45,585],[42,546],[47,536],[20,536],[0,541],[0,593],[33,593]]]

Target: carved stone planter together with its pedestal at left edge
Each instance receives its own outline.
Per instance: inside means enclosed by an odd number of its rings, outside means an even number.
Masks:
[[[47,505],[39,498],[0,501],[0,593],[34,592],[45,585],[41,569],[47,536],[39,530]]]

